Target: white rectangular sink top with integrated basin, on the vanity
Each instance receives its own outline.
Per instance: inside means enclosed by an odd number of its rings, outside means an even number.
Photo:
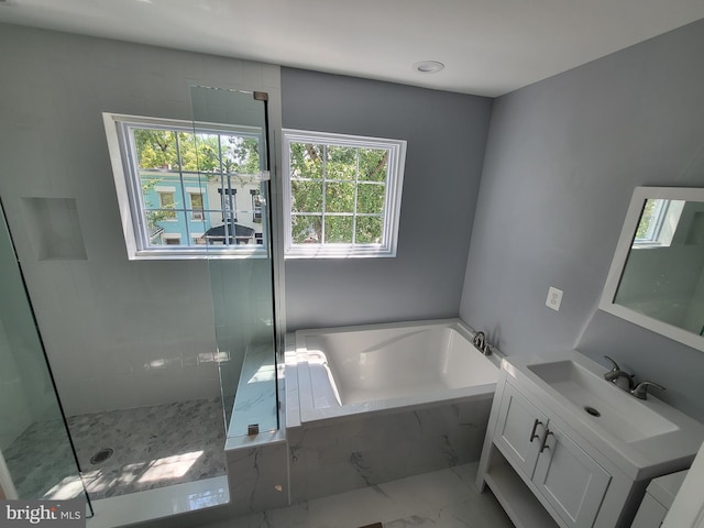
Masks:
[[[553,421],[634,481],[688,468],[704,440],[702,424],[657,396],[642,400],[622,391],[604,380],[604,365],[576,350],[507,356],[502,365],[510,384],[549,415],[548,429]]]

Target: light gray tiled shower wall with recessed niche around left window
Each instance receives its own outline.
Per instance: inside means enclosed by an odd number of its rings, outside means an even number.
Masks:
[[[67,414],[219,396],[241,337],[216,343],[206,261],[128,261],[101,112],[189,119],[205,85],[268,91],[280,125],[279,68],[0,25],[0,195]]]

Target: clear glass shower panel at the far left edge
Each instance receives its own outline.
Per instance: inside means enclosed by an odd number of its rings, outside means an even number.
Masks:
[[[1,205],[0,299],[0,485],[14,498],[81,497],[91,515]]]

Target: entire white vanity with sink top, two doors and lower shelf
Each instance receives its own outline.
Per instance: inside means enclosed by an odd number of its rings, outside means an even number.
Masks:
[[[694,460],[702,424],[605,372],[574,350],[502,361],[476,484],[518,528],[630,527],[650,481]]]

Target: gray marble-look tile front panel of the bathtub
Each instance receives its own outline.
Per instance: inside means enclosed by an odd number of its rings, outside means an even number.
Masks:
[[[492,395],[288,428],[292,502],[477,461]]]

